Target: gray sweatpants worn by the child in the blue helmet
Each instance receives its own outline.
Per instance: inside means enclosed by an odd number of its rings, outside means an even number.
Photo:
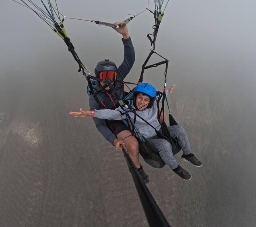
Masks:
[[[172,137],[178,138],[178,143],[185,155],[191,153],[188,137],[184,128],[181,125],[168,126],[168,131]],[[161,156],[165,164],[170,166],[172,170],[178,167],[178,164],[173,157],[171,144],[167,140],[154,139],[153,137],[151,139],[148,139],[148,141],[149,143],[151,143],[151,145],[153,145],[153,147],[155,147],[159,151],[159,155]]]

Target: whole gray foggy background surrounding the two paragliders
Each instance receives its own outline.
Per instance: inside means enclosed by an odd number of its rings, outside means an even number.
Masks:
[[[36,1],[35,1],[36,2]],[[146,0],[58,1],[67,17],[121,21]],[[149,8],[154,9],[150,0]],[[254,227],[256,223],[255,1],[169,1],[155,51],[169,59],[171,112],[186,129],[195,168],[174,176],[142,158],[147,187],[172,227]],[[0,14],[0,226],[148,226],[122,152],[97,131],[87,81],[65,43],[31,10],[4,0]],[[126,81],[137,82],[150,51],[153,14],[129,24],[136,61]],[[88,21],[66,19],[76,53],[94,72],[103,59],[123,59],[122,36]],[[154,56],[151,63],[161,61]],[[163,90],[164,66],[144,82]]]

